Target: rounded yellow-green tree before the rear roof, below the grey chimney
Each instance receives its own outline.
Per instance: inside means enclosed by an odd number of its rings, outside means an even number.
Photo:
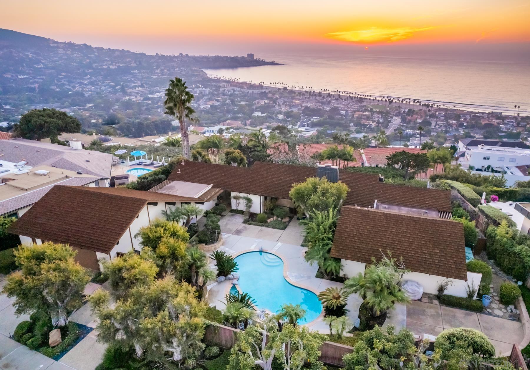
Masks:
[[[295,183],[289,191],[289,197],[306,217],[310,212],[328,212],[330,208],[340,209],[346,199],[348,186],[339,182],[330,182],[326,178],[308,178]]]

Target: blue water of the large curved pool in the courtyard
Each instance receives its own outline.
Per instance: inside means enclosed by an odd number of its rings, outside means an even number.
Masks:
[[[306,311],[304,324],[316,319],[322,312],[319,298],[309,290],[291,285],[284,278],[284,262],[266,252],[249,252],[235,258],[239,265],[239,286],[255,299],[259,309],[278,312],[287,303],[300,304]],[[235,288],[233,288],[235,289]]]

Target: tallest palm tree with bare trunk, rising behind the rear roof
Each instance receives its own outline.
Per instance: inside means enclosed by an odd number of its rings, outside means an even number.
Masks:
[[[180,135],[182,137],[182,152],[184,157],[190,159],[190,138],[186,127],[186,119],[194,121],[192,118],[195,110],[191,108],[191,102],[195,99],[188,91],[188,86],[182,78],[175,77],[170,80],[169,87],[165,91],[164,108],[165,114],[179,120]]]

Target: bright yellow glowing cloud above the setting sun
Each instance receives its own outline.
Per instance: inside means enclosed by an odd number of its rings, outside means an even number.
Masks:
[[[325,35],[336,40],[373,43],[373,42],[396,42],[411,38],[414,33],[431,30],[435,27],[401,27],[401,28],[379,28],[372,27],[366,30],[331,32]]]

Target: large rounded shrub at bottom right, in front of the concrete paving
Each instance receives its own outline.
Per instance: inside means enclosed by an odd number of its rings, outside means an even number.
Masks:
[[[435,349],[441,350],[441,359],[452,358],[452,352],[471,349],[474,355],[482,357],[495,356],[495,348],[488,337],[478,330],[454,328],[441,332],[435,341]]]

